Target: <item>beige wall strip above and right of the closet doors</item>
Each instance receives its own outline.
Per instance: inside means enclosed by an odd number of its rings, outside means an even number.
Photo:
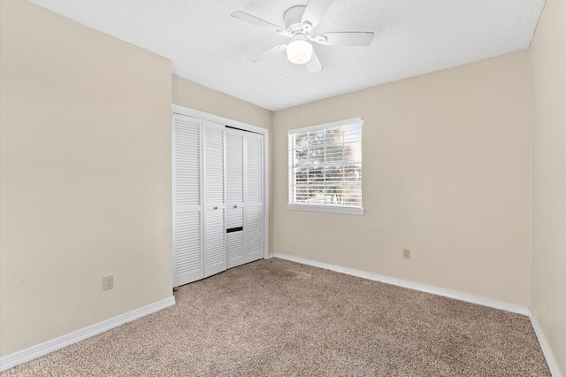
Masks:
[[[269,130],[268,149],[272,153],[272,112],[258,107],[254,104],[242,101],[241,99],[228,96],[216,90],[203,87],[193,81],[188,81],[179,76],[172,75],[172,101],[173,104],[180,104],[201,112],[218,115],[227,119],[238,120],[256,127],[263,127]],[[269,158],[269,171],[272,171],[273,160]],[[268,250],[272,252],[273,248],[273,175],[269,177],[270,188],[270,227],[269,227],[269,245]]]

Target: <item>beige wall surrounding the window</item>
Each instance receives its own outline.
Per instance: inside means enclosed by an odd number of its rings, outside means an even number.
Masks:
[[[529,108],[521,51],[275,112],[273,250],[528,305]],[[287,210],[287,130],[356,116],[365,214]]]

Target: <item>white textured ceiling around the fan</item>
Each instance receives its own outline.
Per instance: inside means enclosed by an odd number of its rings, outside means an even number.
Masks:
[[[231,13],[284,27],[283,14],[308,0],[28,0],[172,60],[172,73],[277,111],[529,46],[544,0],[334,0],[317,33],[372,31],[369,47],[315,45],[324,69],[310,74],[285,53],[288,42]]]

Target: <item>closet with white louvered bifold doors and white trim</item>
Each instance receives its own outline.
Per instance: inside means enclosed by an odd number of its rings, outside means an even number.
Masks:
[[[264,133],[211,118],[173,113],[173,287],[265,255]]]

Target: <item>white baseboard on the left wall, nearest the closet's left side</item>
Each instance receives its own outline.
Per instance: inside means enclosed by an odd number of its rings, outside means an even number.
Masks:
[[[66,346],[73,343],[80,342],[91,336],[102,334],[105,331],[111,330],[114,327],[119,327],[127,322],[131,322],[134,319],[139,319],[145,317],[154,312],[159,312],[169,306],[175,304],[175,297],[171,296],[165,298],[164,300],[157,301],[156,303],[149,304],[140,309],[136,309],[132,312],[127,312],[121,314],[117,317],[103,320],[95,325],[81,328],[80,330],[74,331],[71,334],[63,335],[55,339],[51,339],[47,342],[42,342],[40,344],[34,345],[33,347],[27,348],[26,350],[19,350],[10,355],[0,358],[0,372],[10,369],[13,366],[26,363],[34,358],[39,358],[43,355],[47,355],[55,350],[60,350]]]

